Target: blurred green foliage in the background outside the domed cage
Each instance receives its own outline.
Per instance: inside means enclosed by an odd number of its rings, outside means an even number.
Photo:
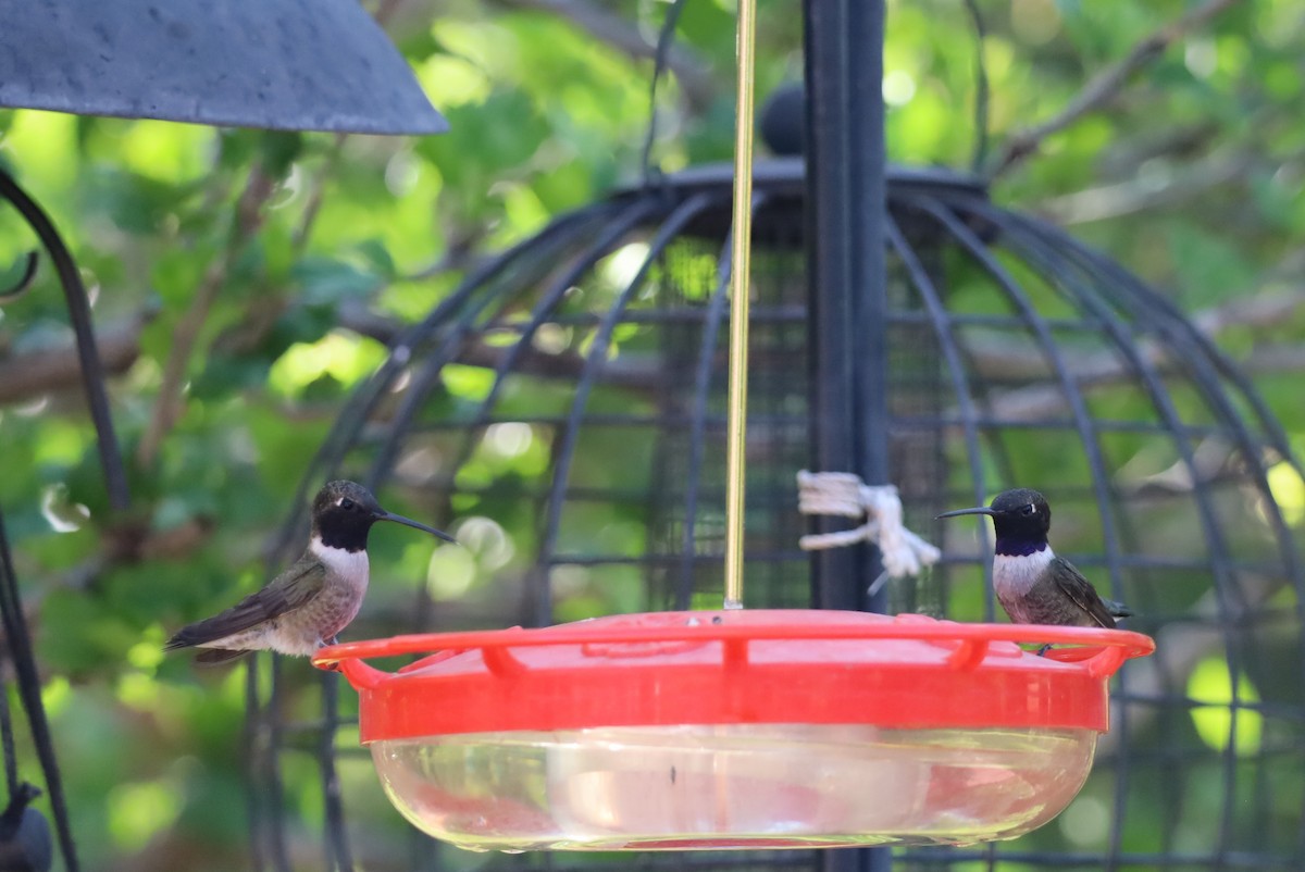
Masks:
[[[801,33],[796,3],[761,5],[763,95],[800,76]],[[994,200],[1069,226],[1198,313],[1300,449],[1305,12],[1292,0],[977,7]],[[134,496],[127,516],[107,508],[67,316],[43,269],[0,308],[0,505],[90,865],[247,864],[243,672],[196,674],[161,645],[262,582],[266,531],[384,355],[371,319],[420,317],[479,256],[638,178],[666,9],[373,7],[452,124],[423,140],[0,111],[0,161],[50,210],[91,287]],[[887,26],[891,159],[970,167],[981,137],[966,7],[893,1]],[[1021,131],[1158,33],[1172,44],[1108,99],[1004,163]],[[732,4],[689,3],[658,94],[663,170],[729,157],[732,56]],[[31,247],[0,210],[0,269]],[[61,362],[63,375],[34,377],[38,360]],[[1275,483],[1298,525],[1298,479]],[[389,560],[424,568],[429,546],[401,553],[398,539],[381,543]],[[296,856],[309,865],[316,774],[290,777],[304,821]],[[368,777],[354,781],[375,792]],[[380,803],[364,804],[365,820],[398,832]]]

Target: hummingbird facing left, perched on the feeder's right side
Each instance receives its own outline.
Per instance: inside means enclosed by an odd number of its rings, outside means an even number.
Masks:
[[[1121,603],[1103,599],[1074,564],[1056,556],[1047,542],[1052,510],[1037,491],[1005,491],[992,505],[944,512],[938,517],[962,514],[992,518],[997,530],[992,585],[1011,621],[1109,629],[1116,617],[1133,614]]]

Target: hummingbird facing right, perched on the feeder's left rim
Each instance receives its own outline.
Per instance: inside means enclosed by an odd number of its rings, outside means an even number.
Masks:
[[[334,642],[363,604],[367,534],[377,521],[454,542],[448,533],[386,512],[361,484],[329,482],[313,499],[312,538],[303,556],[258,593],[180,629],[163,650],[206,649],[196,658],[205,666],[262,649],[311,657]]]

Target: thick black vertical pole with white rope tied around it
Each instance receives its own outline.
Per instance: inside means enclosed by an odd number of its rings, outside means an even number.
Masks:
[[[805,0],[806,256],[813,469],[889,483],[883,0]],[[820,531],[846,529],[822,518]],[[883,611],[870,544],[818,551],[821,608]],[[825,851],[825,872],[882,872],[886,849]]]

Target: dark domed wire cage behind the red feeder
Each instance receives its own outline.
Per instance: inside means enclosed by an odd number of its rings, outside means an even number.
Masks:
[[[304,491],[348,473],[386,505],[459,522],[465,542],[499,557],[492,580],[459,600],[432,597],[424,573],[403,591],[373,585],[350,640],[719,604],[731,183],[728,170],[699,168],[562,215],[394,339]],[[820,595],[796,544],[808,523],[795,476],[812,462],[813,432],[846,410],[822,405],[808,366],[822,337],[809,317],[803,164],[758,164],[754,185],[748,597],[808,607]],[[1305,590],[1266,480],[1292,462],[1271,415],[1163,296],[993,205],[974,179],[890,171],[883,228],[889,366],[876,376],[907,525],[938,542],[938,512],[1037,484],[1054,505],[1058,552],[1137,610],[1130,629],[1159,641],[1117,684],[1112,731],[1070,807],[1073,839],[1051,826],[1009,845],[900,849],[894,863],[1297,868],[1305,701],[1291,676]],[[283,556],[303,522],[301,509],[287,522]],[[1174,539],[1184,530],[1193,535]],[[887,585],[886,611],[994,616],[987,539],[950,535],[932,572]],[[1211,662],[1232,676],[1223,696],[1193,681]],[[337,677],[317,709],[315,681],[275,663],[270,687],[265,675],[251,671],[251,739],[268,862],[288,868],[287,769],[317,765],[330,864],[454,868],[452,849],[419,835],[411,852],[360,838],[359,816],[375,815],[342,800],[339,783],[371,773]],[[1207,714],[1229,735],[1212,739]],[[1185,826],[1197,805],[1218,825]]]

